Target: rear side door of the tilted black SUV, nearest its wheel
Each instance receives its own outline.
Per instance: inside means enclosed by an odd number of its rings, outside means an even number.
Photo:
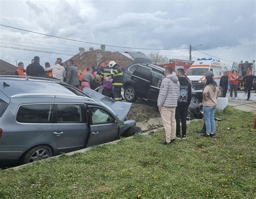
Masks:
[[[135,88],[138,97],[147,99],[150,89],[151,73],[149,67],[138,65],[131,76],[132,86]]]

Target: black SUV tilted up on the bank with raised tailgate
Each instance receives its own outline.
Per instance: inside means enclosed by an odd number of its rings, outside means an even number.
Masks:
[[[124,72],[124,98],[127,102],[135,102],[138,98],[157,102],[161,81],[164,79],[165,68],[154,65],[151,60],[140,52],[126,52],[134,59],[134,63],[126,66]],[[188,81],[190,81],[187,78]],[[191,81],[190,81],[191,83]],[[192,83],[191,83],[192,86]],[[202,90],[192,86],[192,100],[188,107],[187,120],[202,118]]]

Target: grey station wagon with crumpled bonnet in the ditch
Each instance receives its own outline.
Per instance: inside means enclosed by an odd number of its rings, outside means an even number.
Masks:
[[[0,161],[25,164],[137,132],[136,122],[127,120],[131,103],[91,91],[41,77],[0,75]]]

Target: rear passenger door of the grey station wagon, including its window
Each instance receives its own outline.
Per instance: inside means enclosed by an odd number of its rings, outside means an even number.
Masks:
[[[85,147],[88,125],[84,104],[55,104],[54,120],[51,127],[59,152],[71,152]]]

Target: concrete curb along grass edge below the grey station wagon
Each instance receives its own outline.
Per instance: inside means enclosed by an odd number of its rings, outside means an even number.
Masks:
[[[151,131],[147,131],[147,132],[144,132],[144,133],[140,133],[140,135],[145,136],[145,135],[149,134],[150,132],[156,132],[156,131],[161,130],[161,129],[164,129],[164,128],[163,128],[163,127],[160,127],[160,128],[158,128],[158,129],[154,129],[154,130],[151,130]],[[127,137],[127,138],[123,138],[123,139],[131,139],[131,138],[133,138],[133,137],[134,137],[134,136]],[[119,141],[121,141],[121,139],[114,140],[114,141],[111,141],[111,142],[109,142],[109,143],[104,143],[104,144],[101,144],[101,145],[96,145],[96,146],[103,146],[103,145],[107,145],[107,144],[117,144],[117,143],[119,143]],[[87,152],[87,151],[90,151],[92,147],[95,147],[95,146],[91,146],[91,147],[88,147],[88,148],[83,148],[83,149],[81,149],[81,150],[72,151],[72,152],[65,153],[65,154],[66,154],[66,155],[73,155],[73,154],[75,154],[75,153],[85,153],[85,152]],[[60,157],[60,155],[56,155],[56,156],[53,156],[53,157],[51,157],[51,158],[43,159],[43,160],[40,160],[40,161],[49,161],[49,160],[52,160],[52,159],[55,159],[55,158],[58,158],[58,157]],[[34,164],[34,163],[31,162],[31,163],[28,163],[28,164],[25,164],[25,165],[19,165],[19,166],[17,166],[17,167],[8,168],[8,169],[5,169],[5,170],[9,170],[9,169],[18,170],[18,169],[20,169],[20,168],[23,168],[23,167],[26,167],[26,166],[31,166],[31,165],[33,165],[33,164]]]

